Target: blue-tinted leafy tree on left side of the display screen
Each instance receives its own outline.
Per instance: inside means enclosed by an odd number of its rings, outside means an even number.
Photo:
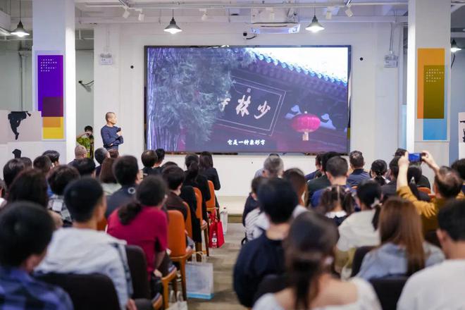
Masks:
[[[195,144],[209,141],[230,97],[231,70],[254,59],[247,49],[148,49],[147,147],[177,150],[187,133]]]

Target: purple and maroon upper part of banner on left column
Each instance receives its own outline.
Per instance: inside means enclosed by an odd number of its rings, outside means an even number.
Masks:
[[[63,117],[63,55],[37,56],[37,109],[42,117]]]

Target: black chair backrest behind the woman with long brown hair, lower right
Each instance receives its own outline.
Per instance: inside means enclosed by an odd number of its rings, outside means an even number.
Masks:
[[[370,280],[371,285],[373,285],[378,295],[378,299],[380,299],[383,310],[397,309],[397,301],[399,300],[407,279],[407,276],[402,275]]]

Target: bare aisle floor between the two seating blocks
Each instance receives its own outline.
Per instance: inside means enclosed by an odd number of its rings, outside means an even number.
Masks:
[[[228,223],[225,244],[220,249],[210,249],[208,261],[213,263],[215,294],[211,300],[189,299],[189,310],[235,310],[244,309],[237,302],[233,290],[233,268],[239,254],[244,227],[239,223]]]

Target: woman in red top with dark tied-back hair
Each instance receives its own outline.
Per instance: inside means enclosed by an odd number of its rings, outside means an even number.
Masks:
[[[165,201],[166,185],[152,175],[137,187],[134,202],[121,206],[109,217],[109,235],[144,250],[149,278],[154,277],[168,246],[168,219],[161,210]]]

